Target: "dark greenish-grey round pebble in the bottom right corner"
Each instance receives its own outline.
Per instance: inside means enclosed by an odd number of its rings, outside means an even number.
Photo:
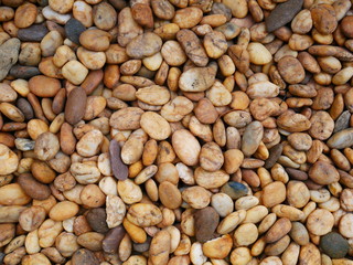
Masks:
[[[347,241],[335,232],[330,232],[320,239],[320,247],[332,258],[344,257],[350,248]]]

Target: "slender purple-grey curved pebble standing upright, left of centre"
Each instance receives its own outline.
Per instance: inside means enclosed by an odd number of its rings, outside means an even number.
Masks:
[[[126,180],[128,178],[128,167],[122,162],[120,157],[121,148],[116,140],[109,144],[109,158],[113,174],[118,180]]]

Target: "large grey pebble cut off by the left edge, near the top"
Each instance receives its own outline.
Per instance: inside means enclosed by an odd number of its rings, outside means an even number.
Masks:
[[[12,38],[0,45],[0,81],[9,73],[12,65],[18,62],[21,42]]]

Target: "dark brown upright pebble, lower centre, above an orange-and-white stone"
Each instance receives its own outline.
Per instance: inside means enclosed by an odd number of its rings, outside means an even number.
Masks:
[[[212,240],[220,223],[218,213],[212,206],[206,206],[197,210],[194,219],[196,240],[201,243]]]

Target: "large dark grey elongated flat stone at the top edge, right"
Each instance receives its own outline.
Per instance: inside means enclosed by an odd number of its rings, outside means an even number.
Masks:
[[[272,12],[265,19],[268,32],[272,32],[282,25],[289,23],[301,10],[303,0],[288,0],[279,3]]]

